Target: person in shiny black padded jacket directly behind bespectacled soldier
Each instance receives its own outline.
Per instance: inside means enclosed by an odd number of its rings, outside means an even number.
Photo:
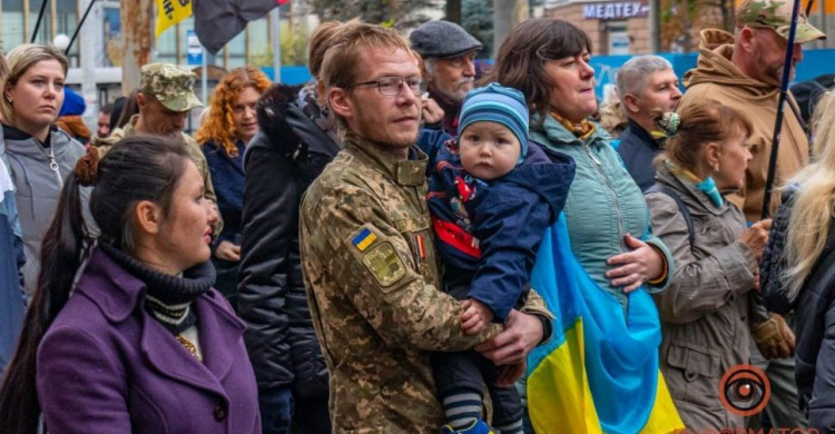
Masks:
[[[351,23],[320,26],[311,38],[314,77]],[[275,85],[258,101],[261,130],[244,158],[238,315],[258,382],[265,434],[331,433],[327,368],[307,308],[298,256],[302,195],[340,151],[316,87]]]

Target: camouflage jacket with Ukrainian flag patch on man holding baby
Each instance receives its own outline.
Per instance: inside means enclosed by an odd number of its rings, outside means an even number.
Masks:
[[[459,302],[436,289],[428,158],[410,154],[348,134],[302,204],[302,266],[335,433],[440,432],[430,352],[468,349],[500,331],[464,335]]]

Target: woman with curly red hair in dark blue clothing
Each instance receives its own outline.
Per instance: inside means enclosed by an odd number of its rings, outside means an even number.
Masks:
[[[225,223],[212,247],[218,272],[216,287],[227,297],[235,294],[240,262],[244,150],[258,132],[255,107],[269,86],[267,77],[253,67],[238,68],[224,76],[215,88],[206,121],[195,136],[203,146]]]

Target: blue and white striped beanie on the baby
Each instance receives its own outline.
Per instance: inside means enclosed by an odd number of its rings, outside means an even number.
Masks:
[[[513,131],[522,147],[519,162],[524,161],[528,155],[528,105],[522,92],[498,82],[471,90],[461,107],[458,136],[461,137],[470,124],[479,121],[499,122]]]

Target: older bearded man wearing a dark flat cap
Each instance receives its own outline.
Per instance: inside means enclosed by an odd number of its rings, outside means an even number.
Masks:
[[[454,136],[461,105],[475,82],[475,53],[483,46],[461,26],[441,20],[424,22],[409,39],[423,58],[429,97],[444,111],[443,129]]]

